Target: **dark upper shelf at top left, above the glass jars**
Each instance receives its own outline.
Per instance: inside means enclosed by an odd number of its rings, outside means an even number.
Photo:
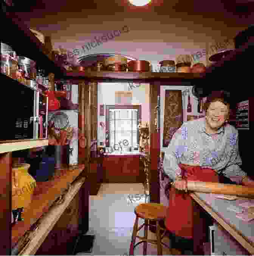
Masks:
[[[46,55],[46,48],[29,30],[17,14],[8,11],[8,6],[3,1],[0,3],[2,11],[2,39],[5,44],[10,45],[19,56],[36,61],[40,68],[57,76],[63,76],[66,69],[59,66]]]

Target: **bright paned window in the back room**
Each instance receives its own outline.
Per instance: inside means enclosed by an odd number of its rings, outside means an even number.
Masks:
[[[106,105],[106,147],[114,147],[119,141],[128,140],[129,147],[139,149],[141,106]]]

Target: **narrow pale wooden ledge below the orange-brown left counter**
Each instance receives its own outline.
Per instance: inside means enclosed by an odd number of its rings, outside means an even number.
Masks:
[[[77,194],[83,183],[84,180],[82,178],[75,181],[74,184],[72,184],[71,186],[70,192],[65,195],[64,203],[60,204],[59,206],[52,206],[50,210],[39,220],[39,231],[37,232],[36,236],[31,240],[28,247],[20,255],[35,255],[36,251],[38,250],[40,245],[42,245],[50,231],[53,229],[57,220],[59,220],[60,216],[68,207],[71,200]]]

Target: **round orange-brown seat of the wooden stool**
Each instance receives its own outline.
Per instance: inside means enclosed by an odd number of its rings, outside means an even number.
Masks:
[[[142,219],[160,221],[166,218],[167,207],[158,203],[142,203],[136,206],[135,214]]]

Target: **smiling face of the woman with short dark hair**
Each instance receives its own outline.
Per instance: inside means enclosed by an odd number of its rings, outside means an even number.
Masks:
[[[206,128],[208,131],[217,131],[228,119],[229,108],[220,101],[212,102],[206,111]]]

